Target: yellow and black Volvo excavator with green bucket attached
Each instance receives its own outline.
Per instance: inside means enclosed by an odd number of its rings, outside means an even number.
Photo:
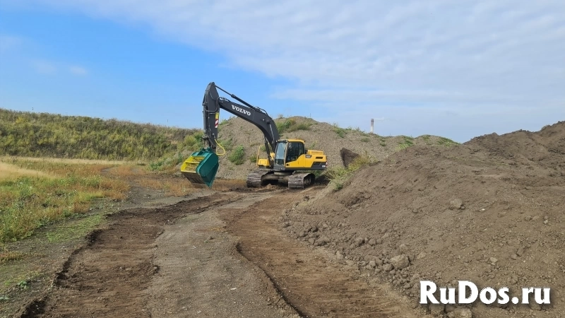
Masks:
[[[218,89],[241,102],[220,97]],[[259,158],[258,169],[247,176],[247,187],[262,187],[266,184],[287,184],[290,189],[303,189],[314,183],[314,171],[326,170],[327,159],[323,151],[307,149],[300,139],[279,139],[275,121],[265,110],[245,102],[236,95],[215,85],[208,84],[202,101],[204,117],[203,148],[191,154],[181,165],[181,173],[193,184],[212,187],[218,172],[219,157],[218,123],[220,109],[254,124],[265,137],[267,158]]]

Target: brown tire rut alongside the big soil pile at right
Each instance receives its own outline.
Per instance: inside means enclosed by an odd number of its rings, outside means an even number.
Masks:
[[[417,317],[385,288],[354,278],[344,266],[329,261],[327,254],[278,230],[280,211],[303,196],[285,191],[220,217],[227,230],[240,238],[238,251],[266,273],[303,317]]]

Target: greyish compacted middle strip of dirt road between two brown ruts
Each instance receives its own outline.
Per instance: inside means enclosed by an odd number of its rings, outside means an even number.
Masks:
[[[249,193],[231,204],[186,216],[155,241],[160,271],[151,282],[151,317],[299,318],[261,269],[236,250],[220,211],[244,208],[270,193]]]

